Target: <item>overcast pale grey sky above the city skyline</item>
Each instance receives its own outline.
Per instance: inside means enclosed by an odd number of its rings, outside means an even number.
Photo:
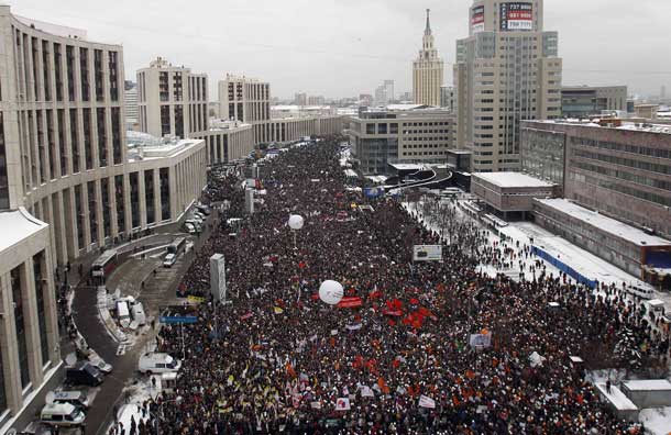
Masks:
[[[273,94],[373,92],[383,79],[411,90],[425,9],[452,81],[455,40],[468,36],[471,0],[10,0],[13,13],[80,27],[124,47],[127,79],[156,56],[207,72],[272,83]],[[559,31],[565,85],[620,85],[671,93],[670,0],[546,0]],[[211,97],[215,97],[212,94]]]

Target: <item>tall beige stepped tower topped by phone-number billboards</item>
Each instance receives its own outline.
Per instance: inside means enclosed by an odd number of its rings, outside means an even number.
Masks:
[[[474,0],[470,36],[457,42],[457,145],[473,171],[519,170],[522,120],[561,116],[557,32],[543,31],[543,1]]]

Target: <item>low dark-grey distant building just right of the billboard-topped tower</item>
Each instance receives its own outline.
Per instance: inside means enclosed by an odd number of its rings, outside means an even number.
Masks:
[[[627,111],[626,86],[564,86],[561,88],[562,118],[587,118],[604,111]]]

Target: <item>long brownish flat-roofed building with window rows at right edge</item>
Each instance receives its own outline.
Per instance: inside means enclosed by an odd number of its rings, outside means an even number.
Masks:
[[[526,121],[522,167],[578,204],[671,237],[671,126]]]

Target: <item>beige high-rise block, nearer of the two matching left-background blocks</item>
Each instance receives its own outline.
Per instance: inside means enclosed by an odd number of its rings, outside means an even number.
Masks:
[[[205,74],[158,57],[138,71],[140,130],[153,136],[194,137],[208,127]]]

